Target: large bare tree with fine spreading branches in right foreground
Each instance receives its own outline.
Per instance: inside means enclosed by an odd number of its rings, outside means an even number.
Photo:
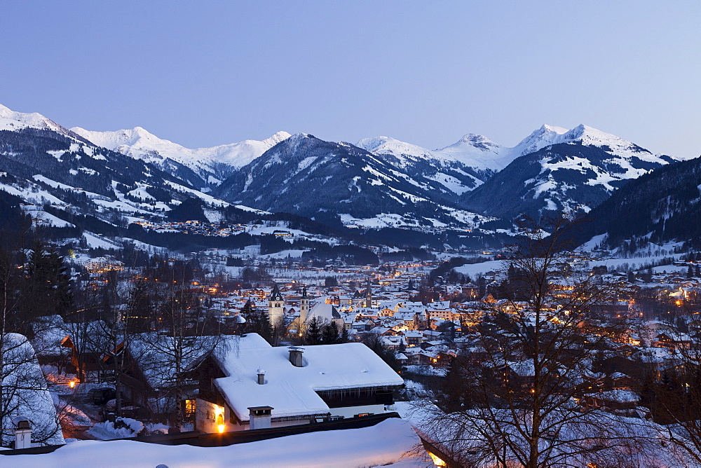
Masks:
[[[614,352],[625,329],[600,306],[625,291],[573,271],[567,249],[577,223],[523,221],[472,349],[433,392],[435,422],[462,462],[600,463],[638,442],[620,418],[586,404],[597,352]]]

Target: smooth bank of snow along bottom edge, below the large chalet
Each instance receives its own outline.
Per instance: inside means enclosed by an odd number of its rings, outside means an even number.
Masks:
[[[53,453],[13,455],[0,462],[17,468],[154,468],[161,464],[169,468],[433,466],[425,453],[413,453],[420,443],[408,422],[392,418],[362,429],[312,432],[227,447],[75,441]]]

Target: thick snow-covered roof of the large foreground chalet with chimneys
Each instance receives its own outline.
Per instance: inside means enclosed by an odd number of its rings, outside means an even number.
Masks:
[[[287,347],[259,347],[229,352],[218,359],[227,377],[215,380],[239,420],[251,406],[272,406],[273,418],[329,413],[316,393],[322,390],[402,385],[404,380],[362,343],[315,345],[304,349],[304,366],[290,362]],[[266,383],[257,383],[257,370]]]

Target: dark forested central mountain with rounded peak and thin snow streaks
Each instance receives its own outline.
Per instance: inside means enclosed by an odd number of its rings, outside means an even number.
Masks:
[[[214,193],[266,211],[320,220],[340,216],[363,226],[472,223],[475,214],[446,202],[440,184],[412,179],[400,167],[349,143],[298,134],[242,167]]]

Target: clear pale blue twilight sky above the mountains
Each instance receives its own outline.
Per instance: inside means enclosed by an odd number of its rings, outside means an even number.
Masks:
[[[701,154],[701,1],[0,1],[0,103],[189,147],[580,123]]]

